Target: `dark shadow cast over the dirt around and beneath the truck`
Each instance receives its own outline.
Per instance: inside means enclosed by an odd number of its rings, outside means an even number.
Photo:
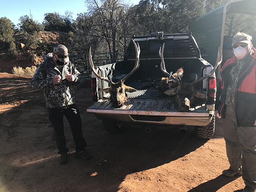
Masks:
[[[196,139],[193,128],[185,134],[178,128],[148,134],[145,128],[124,125],[118,133],[110,134],[103,130],[100,120],[86,112],[92,104],[90,91],[81,89],[78,107],[93,160],[75,157],[72,133],[65,119],[70,154],[68,163],[59,165],[43,92],[33,94],[24,95],[29,98],[27,102],[0,114],[0,191],[116,192],[127,175],[170,163],[207,142]],[[190,191],[213,192],[232,181],[222,177]]]

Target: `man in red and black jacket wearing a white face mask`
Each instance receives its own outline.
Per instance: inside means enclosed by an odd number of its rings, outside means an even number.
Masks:
[[[230,163],[222,174],[242,175],[243,192],[256,190],[256,49],[251,39],[240,32],[234,36],[234,56],[221,68],[215,106]]]

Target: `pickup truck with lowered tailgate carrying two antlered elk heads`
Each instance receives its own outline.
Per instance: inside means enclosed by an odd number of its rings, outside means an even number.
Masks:
[[[154,82],[160,86],[160,79],[166,75],[160,69],[161,59],[159,49],[165,43],[164,60],[168,72],[175,73],[183,68],[182,82],[191,83],[198,78],[208,75],[213,67],[201,58],[200,48],[191,33],[163,34],[156,32],[150,35],[134,36],[132,38],[140,46],[140,67],[131,75],[125,84],[137,91],[127,94],[127,102],[120,108],[114,108],[109,99],[109,93],[102,90],[109,84],[98,79],[92,73],[92,93],[94,104],[87,112],[94,113],[102,119],[103,127],[110,132],[119,129],[123,123],[143,125],[146,132],[156,129],[179,127],[185,132],[186,126],[195,127],[196,137],[212,138],[215,129],[215,73],[194,85],[196,90],[206,93],[207,98],[198,100],[189,111],[181,112],[172,96],[159,96],[159,90],[145,86]],[[125,51],[123,61],[96,67],[97,73],[113,82],[119,81],[133,68],[136,61],[135,46],[130,41]],[[154,126],[152,126],[154,125]]]

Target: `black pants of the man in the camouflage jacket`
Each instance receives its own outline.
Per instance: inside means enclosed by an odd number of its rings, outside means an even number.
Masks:
[[[73,133],[73,139],[76,144],[76,152],[83,151],[86,147],[86,141],[82,133],[82,122],[79,110],[76,104],[70,105],[67,108],[49,108],[49,120],[54,127],[55,138],[58,146],[58,153],[68,151],[65,136],[63,116],[65,115]]]

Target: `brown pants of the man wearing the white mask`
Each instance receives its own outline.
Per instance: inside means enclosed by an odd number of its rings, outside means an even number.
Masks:
[[[230,168],[242,169],[245,185],[256,189],[256,127],[237,127],[235,107],[226,108],[222,126]]]

